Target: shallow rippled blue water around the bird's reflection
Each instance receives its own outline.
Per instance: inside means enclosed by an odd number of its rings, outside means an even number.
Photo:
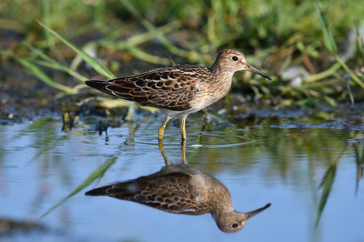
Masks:
[[[307,119],[303,125],[294,117],[230,118],[231,124],[217,126],[191,115],[185,147],[191,167],[220,180],[240,212],[272,203],[241,231],[227,234],[210,214],[172,214],[84,195],[165,166],[157,139],[163,118],[149,123],[139,119],[101,136],[92,130],[94,123],[62,132],[57,119],[0,126],[0,219],[39,225],[25,231],[24,225],[0,222],[0,239],[364,241],[360,126],[343,129],[338,123]],[[179,127],[172,124],[165,130],[163,148],[170,161],[179,163]]]

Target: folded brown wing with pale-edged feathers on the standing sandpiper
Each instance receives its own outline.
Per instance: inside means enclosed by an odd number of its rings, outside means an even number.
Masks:
[[[138,75],[109,81],[86,81],[104,93],[137,102],[143,106],[184,111],[198,91],[207,67],[199,65],[166,66]]]

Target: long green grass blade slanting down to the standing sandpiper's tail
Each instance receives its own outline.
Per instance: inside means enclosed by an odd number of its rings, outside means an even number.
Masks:
[[[74,50],[77,54],[79,54],[84,61],[86,61],[88,64],[92,66],[99,74],[105,76],[108,79],[114,79],[116,76],[111,73],[104,65],[102,65],[97,59],[92,58],[89,56],[86,52],[84,52],[82,49],[78,48],[71,42],[67,41],[65,38],[60,36],[58,33],[56,33],[54,30],[48,28],[46,25],[42,24],[40,21],[37,20],[37,22],[46,30],[48,30],[51,34],[53,34],[55,37],[57,37],[59,40],[61,40],[64,44],[66,44],[68,47],[70,47],[72,50]]]

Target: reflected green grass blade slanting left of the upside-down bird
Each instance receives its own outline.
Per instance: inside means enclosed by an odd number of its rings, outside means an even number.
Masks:
[[[74,196],[75,194],[77,194],[80,190],[84,189],[86,186],[90,185],[92,181],[102,177],[104,175],[104,173],[107,171],[108,168],[110,168],[110,166],[112,164],[115,163],[115,161],[118,158],[116,157],[112,157],[109,158],[105,161],[104,164],[102,164],[102,166],[100,166],[99,168],[97,168],[94,172],[92,172],[92,174],[87,177],[82,184],[80,184],[75,190],[73,190],[70,194],[68,194],[66,197],[64,197],[58,204],[54,205],[52,208],[48,209],[48,211],[46,213],[44,213],[42,216],[40,216],[40,218],[38,220],[40,220],[41,218],[43,218],[44,216],[46,216],[47,214],[49,214],[50,212],[52,212],[55,208],[57,208],[59,205],[63,204],[63,202],[65,202],[68,198]]]

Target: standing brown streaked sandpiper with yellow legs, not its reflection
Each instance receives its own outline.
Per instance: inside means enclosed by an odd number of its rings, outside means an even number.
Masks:
[[[239,70],[251,71],[272,80],[246,63],[243,53],[227,49],[218,54],[210,68],[202,65],[174,65],[108,81],[85,83],[115,97],[159,108],[166,115],[158,132],[160,141],[167,122],[175,116],[182,117],[181,135],[182,140],[186,140],[187,116],[223,98],[231,87],[233,74]]]

